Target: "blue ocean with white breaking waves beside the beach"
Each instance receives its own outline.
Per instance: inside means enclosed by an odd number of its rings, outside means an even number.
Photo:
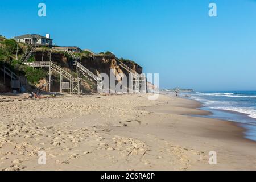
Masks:
[[[239,123],[246,129],[245,138],[256,141],[256,92],[183,92],[180,96],[200,101],[201,109],[212,112],[205,117]]]

